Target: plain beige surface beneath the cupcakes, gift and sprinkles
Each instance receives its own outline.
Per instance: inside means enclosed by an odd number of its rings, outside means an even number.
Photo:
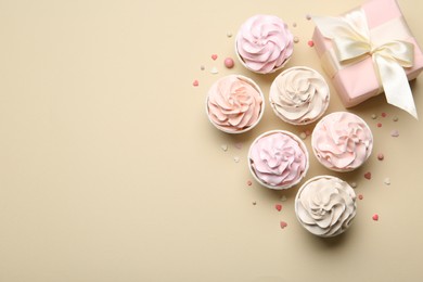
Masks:
[[[370,124],[375,154],[342,178],[364,200],[347,233],[321,240],[295,219],[297,188],[246,185],[256,136],[304,129],[267,104],[257,128],[228,136],[204,111],[207,88],[230,73],[254,78],[267,97],[273,75],[222,67],[234,56],[227,31],[246,17],[296,22],[289,66],[321,72],[305,15],[360,2],[1,0],[0,281],[423,281],[422,121],[382,97],[352,110]],[[399,3],[423,43],[423,2]],[[422,79],[413,84],[420,116]],[[329,111],[339,110],[333,92]],[[370,118],[382,112],[389,116]],[[307,178],[320,174],[336,175],[311,157]]]

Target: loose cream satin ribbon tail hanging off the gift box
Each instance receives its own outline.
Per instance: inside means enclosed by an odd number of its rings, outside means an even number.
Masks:
[[[402,66],[393,57],[379,54],[373,54],[373,56],[379,68],[386,101],[419,119],[414,99]]]

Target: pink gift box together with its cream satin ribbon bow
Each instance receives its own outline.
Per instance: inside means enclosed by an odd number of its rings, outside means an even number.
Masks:
[[[313,22],[316,51],[346,107],[385,92],[388,103],[416,117],[408,80],[422,72],[423,54],[396,0]]]

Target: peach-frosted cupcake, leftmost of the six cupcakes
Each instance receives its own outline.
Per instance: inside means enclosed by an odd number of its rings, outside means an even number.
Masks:
[[[208,90],[208,119],[227,133],[242,133],[255,127],[265,112],[260,88],[249,78],[230,75]]]

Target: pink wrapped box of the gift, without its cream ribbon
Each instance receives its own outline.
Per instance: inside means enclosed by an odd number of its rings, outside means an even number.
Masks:
[[[366,2],[361,10],[366,14],[371,36],[374,30],[377,30],[375,35],[384,37],[380,41],[403,40],[414,44],[414,64],[412,67],[403,68],[408,80],[414,79],[423,69],[423,53],[411,35],[396,0],[371,0]],[[398,27],[394,29],[399,30],[395,30],[394,38],[393,25]],[[398,35],[400,38],[397,38]],[[336,63],[331,62],[328,55],[331,50],[333,52],[332,40],[324,38],[318,27],[315,29],[312,39],[323,68],[332,79],[332,84],[346,107],[355,106],[383,92],[370,55],[339,68]]]

